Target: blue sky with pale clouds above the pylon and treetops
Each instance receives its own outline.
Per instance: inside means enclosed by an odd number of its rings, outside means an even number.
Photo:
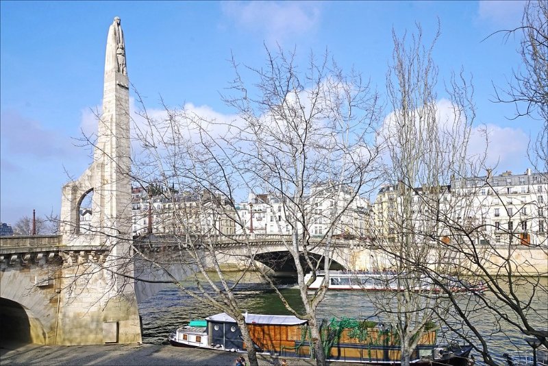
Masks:
[[[219,118],[234,77],[229,62],[260,67],[279,45],[306,62],[329,50],[380,93],[398,35],[423,29],[434,48],[440,85],[451,72],[473,78],[476,130],[490,136],[488,162],[523,173],[538,121],[510,120],[514,107],[493,103],[520,65],[521,1],[0,1],[0,221],[55,215],[61,188],[91,162],[82,132],[96,128],[108,27],[119,16],[130,82],[149,108],[192,106]],[[488,38],[487,38],[488,37]],[[384,92],[386,93],[386,92]],[[130,97],[134,97],[131,94]],[[388,114],[390,110],[386,111]],[[478,141],[478,143],[480,143]]]

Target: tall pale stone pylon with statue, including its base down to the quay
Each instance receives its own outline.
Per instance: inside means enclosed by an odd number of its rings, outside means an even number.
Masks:
[[[141,341],[132,280],[129,80],[118,17],[108,30],[104,80],[93,162],[62,188],[62,243],[75,250],[66,249],[59,278],[61,344]],[[79,211],[90,194],[92,215],[83,223]],[[90,260],[88,252],[101,255]]]

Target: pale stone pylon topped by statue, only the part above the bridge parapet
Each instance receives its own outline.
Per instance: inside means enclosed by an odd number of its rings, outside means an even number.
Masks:
[[[131,235],[129,80],[118,17],[108,32],[103,110],[98,117],[93,162],[62,190],[60,229],[66,245],[114,244]],[[88,194],[92,215],[84,225],[79,210]]]

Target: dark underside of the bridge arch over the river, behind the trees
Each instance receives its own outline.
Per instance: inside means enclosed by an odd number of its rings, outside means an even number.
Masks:
[[[323,269],[323,256],[314,253],[309,254],[309,256],[310,258],[312,258],[312,265],[318,265],[319,263],[318,268]],[[273,269],[274,277],[294,278],[297,276],[297,267],[295,267],[295,262],[293,261],[293,258],[291,254],[289,254],[289,252],[270,252],[256,254],[254,259]],[[301,256],[300,262],[304,268],[305,273],[308,272],[310,268],[306,263],[306,260],[304,260],[303,256]],[[345,269],[345,267],[343,267],[343,265],[340,265],[340,263],[332,260],[331,265],[329,265],[329,269],[337,271]]]

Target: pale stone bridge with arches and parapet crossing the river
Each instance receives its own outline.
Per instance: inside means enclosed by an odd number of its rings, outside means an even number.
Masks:
[[[64,245],[62,238],[61,235],[0,237],[3,339],[64,345],[140,341],[140,323],[134,319],[138,309],[130,299],[111,293],[112,266],[108,265],[108,258],[112,248]],[[242,268],[251,250],[253,258],[269,267],[274,275],[295,272],[284,244],[290,240],[288,236],[255,235],[247,243],[243,239],[235,236],[215,243],[223,269]],[[177,257],[179,243],[171,236],[140,238],[133,245],[144,257],[164,263],[163,267],[177,280],[184,280],[195,271],[190,265],[182,265]],[[334,247],[330,253],[334,259],[332,269],[355,268],[355,254],[359,253],[355,251],[363,248],[345,240],[334,242]],[[310,252],[318,261],[325,254],[314,245]],[[134,257],[136,281],[130,287],[137,303],[166,286],[158,282],[173,282],[162,269],[142,258]],[[207,261],[204,264],[207,266]],[[134,330],[130,332],[128,328]]]

